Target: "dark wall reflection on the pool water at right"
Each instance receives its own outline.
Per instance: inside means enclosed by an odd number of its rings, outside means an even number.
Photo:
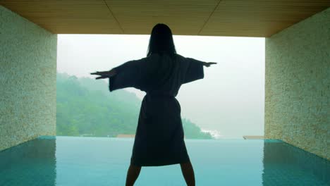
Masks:
[[[264,142],[263,185],[330,185],[330,162],[276,140]]]

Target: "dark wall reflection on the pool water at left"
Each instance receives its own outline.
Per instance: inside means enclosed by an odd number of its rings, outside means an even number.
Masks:
[[[56,185],[54,137],[31,140],[0,152],[0,185]]]

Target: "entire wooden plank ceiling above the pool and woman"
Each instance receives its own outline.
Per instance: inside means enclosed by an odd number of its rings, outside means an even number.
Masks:
[[[149,35],[166,23],[174,35],[269,37],[323,11],[330,0],[0,0],[56,34]]]

